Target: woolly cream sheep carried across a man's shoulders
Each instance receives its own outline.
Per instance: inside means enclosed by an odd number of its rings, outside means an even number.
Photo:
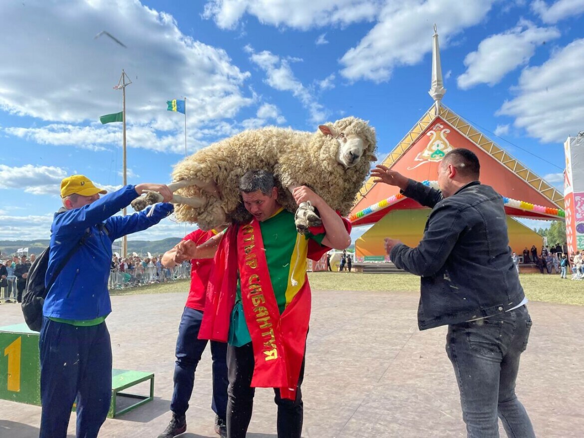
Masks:
[[[248,170],[265,169],[279,182],[278,200],[296,211],[298,232],[320,224],[310,203],[297,206],[291,192],[311,187],[341,215],[349,214],[354,198],[376,161],[373,127],[356,117],[320,125],[315,133],[265,127],[243,131],[203,148],[179,162],[172,172],[177,192],[171,202],[178,221],[197,223],[202,230],[243,223],[251,215],[239,197],[239,178]],[[134,210],[160,201],[148,193],[133,201]]]

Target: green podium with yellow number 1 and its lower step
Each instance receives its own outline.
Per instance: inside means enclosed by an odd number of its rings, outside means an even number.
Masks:
[[[148,394],[121,392],[150,381]],[[118,409],[118,397],[131,399]],[[26,324],[0,327],[0,399],[40,406],[39,333]],[[107,416],[114,418],[154,399],[154,373],[112,370],[112,403]],[[75,411],[75,405],[73,406]]]

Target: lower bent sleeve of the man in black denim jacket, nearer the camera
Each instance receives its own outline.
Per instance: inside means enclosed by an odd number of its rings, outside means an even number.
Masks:
[[[428,229],[416,248],[397,244],[390,258],[395,266],[412,274],[430,277],[446,263],[465,224],[460,211],[452,206],[440,206],[430,213]]]

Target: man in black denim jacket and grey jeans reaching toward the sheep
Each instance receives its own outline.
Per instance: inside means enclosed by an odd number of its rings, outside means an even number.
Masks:
[[[457,148],[440,162],[440,190],[383,165],[371,175],[432,208],[416,248],[386,238],[385,250],[395,266],[422,277],[420,330],[449,325],[446,351],[468,437],[498,437],[499,415],[509,437],[530,438],[515,380],[531,318],[511,259],[503,199],[481,185],[479,171],[477,156]]]

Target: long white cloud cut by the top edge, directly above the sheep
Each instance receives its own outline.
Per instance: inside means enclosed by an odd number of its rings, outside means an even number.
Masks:
[[[235,29],[247,13],[260,23],[307,30],[311,27],[347,26],[372,20],[382,0],[208,0],[203,18],[221,29]]]

